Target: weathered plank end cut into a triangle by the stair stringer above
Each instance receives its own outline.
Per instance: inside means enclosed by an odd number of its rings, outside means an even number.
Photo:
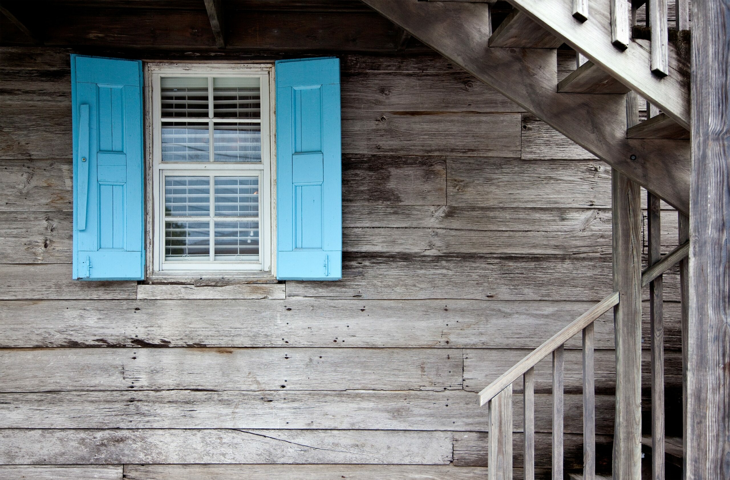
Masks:
[[[590,153],[530,113],[522,114],[522,159],[586,160],[596,159]]]

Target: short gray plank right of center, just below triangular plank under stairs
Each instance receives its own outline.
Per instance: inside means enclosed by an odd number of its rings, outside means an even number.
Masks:
[[[448,205],[610,207],[610,168],[602,161],[520,161],[449,157]]]

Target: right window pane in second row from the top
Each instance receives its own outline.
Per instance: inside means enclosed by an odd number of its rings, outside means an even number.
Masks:
[[[213,125],[215,161],[261,161],[261,126],[250,123]]]

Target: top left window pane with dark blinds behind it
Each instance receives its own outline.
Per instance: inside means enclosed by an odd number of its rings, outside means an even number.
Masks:
[[[208,118],[207,78],[162,78],[162,118]]]

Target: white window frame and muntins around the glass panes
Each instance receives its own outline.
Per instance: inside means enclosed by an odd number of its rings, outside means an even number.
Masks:
[[[261,65],[200,65],[200,66],[153,66],[150,68],[151,88],[153,99],[153,269],[155,271],[171,271],[183,274],[185,272],[199,275],[202,272],[218,273],[219,271],[271,271],[272,251],[274,248],[274,229],[272,221],[272,134],[273,113],[270,102],[271,85],[270,77],[272,66]],[[172,117],[163,118],[161,99],[161,78],[163,77],[189,77],[206,78],[208,81],[208,118],[184,118]],[[254,118],[214,118],[214,104],[212,88],[213,78],[240,78],[252,77],[259,80],[259,94],[261,99],[261,115],[259,119]],[[174,122],[201,122],[208,123],[209,159],[208,161],[162,161],[161,126],[163,121]],[[249,123],[261,126],[261,161],[215,161],[214,160],[214,124],[224,123]],[[164,214],[165,183],[164,178],[169,175],[210,175],[212,176],[258,176],[259,185],[259,210],[258,210],[258,260],[252,262],[242,259],[238,261],[221,261],[209,259],[207,261],[175,261],[166,259],[165,255],[165,221],[171,218]],[[211,208],[214,208],[213,191],[211,195]],[[213,212],[211,211],[211,216]],[[177,217],[176,217],[177,218]],[[224,219],[219,218],[223,221]],[[227,219],[225,219],[227,220]],[[210,222],[212,224],[212,219]],[[215,235],[211,233],[211,238]],[[212,240],[213,241],[213,240]],[[210,245],[211,258],[214,256],[215,245]]]

